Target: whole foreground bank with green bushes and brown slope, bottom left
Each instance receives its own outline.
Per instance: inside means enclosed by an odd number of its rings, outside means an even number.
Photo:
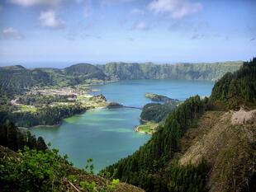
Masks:
[[[0,146],[0,190],[143,191],[132,185],[120,184],[118,179],[110,178],[110,181],[93,175],[92,159],[88,159],[85,169],[73,168],[73,163],[67,161],[68,156],[60,157],[58,152],[55,148],[42,152],[24,147],[15,153]]]

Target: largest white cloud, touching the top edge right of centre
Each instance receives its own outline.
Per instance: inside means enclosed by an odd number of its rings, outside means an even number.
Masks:
[[[149,3],[148,8],[155,14],[167,13],[172,18],[182,18],[199,12],[202,5],[200,2],[190,2],[189,0],[155,0]]]

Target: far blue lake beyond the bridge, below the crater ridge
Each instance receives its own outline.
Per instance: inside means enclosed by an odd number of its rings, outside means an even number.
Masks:
[[[153,79],[127,80],[106,85],[93,86],[92,94],[103,94],[107,101],[116,101],[123,105],[144,106],[150,100],[144,94],[151,92],[173,99],[186,100],[190,96],[210,96],[214,82]]]

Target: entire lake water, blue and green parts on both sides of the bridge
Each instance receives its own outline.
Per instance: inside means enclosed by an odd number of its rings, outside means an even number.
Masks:
[[[94,86],[101,91],[107,101],[120,102],[123,105],[143,106],[149,99],[143,95],[153,92],[174,99],[185,100],[189,96],[211,95],[213,82],[180,81],[180,80],[130,80]],[[61,155],[68,154],[74,166],[83,168],[88,158],[93,158],[95,171],[126,157],[146,143],[151,137],[148,134],[136,133],[135,125],[140,124],[141,110],[137,109],[104,109],[87,111],[64,119],[64,123],[55,128],[31,129],[37,137],[42,136],[45,142],[59,148]]]

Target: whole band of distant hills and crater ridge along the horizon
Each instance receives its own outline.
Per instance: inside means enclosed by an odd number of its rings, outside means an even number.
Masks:
[[[188,79],[216,80],[226,72],[234,72],[242,62],[178,63],[107,63],[92,65],[78,63],[68,68],[24,68],[14,65],[0,68],[0,90],[6,87],[68,87],[85,83],[88,79],[100,81],[124,79]]]

